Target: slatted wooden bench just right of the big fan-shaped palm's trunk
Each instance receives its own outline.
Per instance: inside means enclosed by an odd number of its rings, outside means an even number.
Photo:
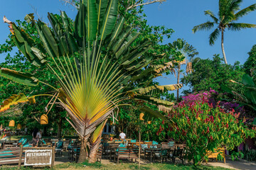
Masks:
[[[119,164],[119,159],[139,159],[137,155],[138,150],[136,148],[127,148],[127,147],[118,147],[116,154],[114,154],[114,162],[116,162],[117,159],[117,164]]]

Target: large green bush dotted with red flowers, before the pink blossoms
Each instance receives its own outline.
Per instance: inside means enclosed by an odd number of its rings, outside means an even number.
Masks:
[[[247,137],[255,137],[255,130],[249,130],[234,111],[225,113],[217,106],[213,108],[206,101],[179,103],[174,107],[170,119],[174,127],[168,135],[175,141],[186,142],[186,156],[193,164],[201,164],[208,159],[208,152],[225,146],[232,150]],[[220,154],[218,156],[220,157]]]

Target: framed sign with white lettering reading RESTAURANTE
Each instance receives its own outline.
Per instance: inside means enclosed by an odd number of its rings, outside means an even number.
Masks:
[[[50,165],[53,158],[53,149],[28,149],[25,152],[25,166]]]

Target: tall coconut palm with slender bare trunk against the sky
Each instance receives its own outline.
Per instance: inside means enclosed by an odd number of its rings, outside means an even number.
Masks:
[[[213,21],[207,21],[198,26],[194,26],[193,33],[196,33],[198,30],[210,30],[214,26],[217,26],[213,33],[209,36],[210,45],[214,45],[215,40],[218,39],[221,34],[221,49],[223,52],[223,58],[225,64],[228,64],[225,57],[224,51],[224,32],[228,30],[241,30],[245,28],[256,28],[255,24],[250,23],[236,23],[242,16],[247,15],[248,13],[256,10],[256,4],[252,4],[247,8],[240,10],[242,0],[219,0],[219,9],[218,16],[216,16],[212,11],[205,11],[206,16],[210,16]]]

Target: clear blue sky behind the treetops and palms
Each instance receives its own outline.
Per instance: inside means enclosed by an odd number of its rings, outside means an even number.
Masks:
[[[242,8],[256,3],[255,0],[245,0]],[[59,0],[9,0],[4,1],[0,6],[0,18],[6,16],[10,21],[17,19],[23,20],[27,13],[35,13],[36,9],[39,16],[43,17],[43,21],[48,22],[47,12],[59,13],[66,11],[70,18],[75,18],[76,11],[72,6],[64,6]],[[208,36],[210,31],[200,31],[196,34],[192,33],[193,26],[204,23],[210,18],[205,16],[203,11],[211,10],[218,12],[218,0],[167,0],[164,4],[151,4],[145,6],[145,13],[150,25],[163,25],[166,28],[172,28],[175,33],[171,39],[165,42],[173,42],[177,38],[183,38],[188,43],[196,47],[199,57],[206,59],[212,58],[214,54],[221,54],[220,39],[215,42],[214,46],[208,44]],[[256,12],[252,12],[239,22],[255,23]],[[0,44],[4,43],[9,29],[6,23],[0,22]],[[225,32],[225,52],[228,63],[233,64],[239,61],[242,64],[247,60],[247,52],[250,51],[252,45],[256,44],[256,29],[245,29],[240,32]],[[4,61],[5,55],[0,55],[0,62]],[[174,84],[174,76],[168,76],[158,79],[161,84]]]

